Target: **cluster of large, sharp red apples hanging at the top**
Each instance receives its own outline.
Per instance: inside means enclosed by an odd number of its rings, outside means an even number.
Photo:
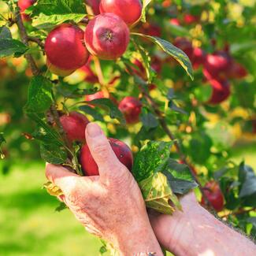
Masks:
[[[86,65],[90,54],[102,60],[115,60],[128,47],[129,26],[142,13],[140,0],[88,1],[95,13],[85,32],[74,24],[61,24],[47,35],[46,65],[58,76],[69,76]]]

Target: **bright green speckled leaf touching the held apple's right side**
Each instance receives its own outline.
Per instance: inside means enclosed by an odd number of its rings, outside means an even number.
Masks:
[[[173,142],[158,141],[150,141],[143,146],[136,155],[132,168],[135,179],[140,182],[153,176],[154,173],[164,171],[172,146]]]

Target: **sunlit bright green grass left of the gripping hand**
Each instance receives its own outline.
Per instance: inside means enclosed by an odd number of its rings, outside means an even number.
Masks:
[[[41,189],[44,166],[15,165],[0,176],[0,255],[98,255],[101,245]]]

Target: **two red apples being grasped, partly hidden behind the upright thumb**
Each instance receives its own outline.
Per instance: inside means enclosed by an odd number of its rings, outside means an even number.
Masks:
[[[87,124],[89,124],[87,117],[82,113],[71,112],[61,116],[60,121],[69,142],[83,144],[80,150],[80,165],[84,175],[98,176],[98,165],[92,158],[85,139],[85,129],[87,128]],[[109,143],[119,161],[131,171],[133,164],[132,150],[118,139],[109,138]]]

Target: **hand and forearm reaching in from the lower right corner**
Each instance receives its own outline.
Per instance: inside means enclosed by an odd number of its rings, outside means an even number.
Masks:
[[[256,246],[200,206],[193,192],[180,198],[183,211],[150,212],[158,242],[176,256],[256,255]]]

